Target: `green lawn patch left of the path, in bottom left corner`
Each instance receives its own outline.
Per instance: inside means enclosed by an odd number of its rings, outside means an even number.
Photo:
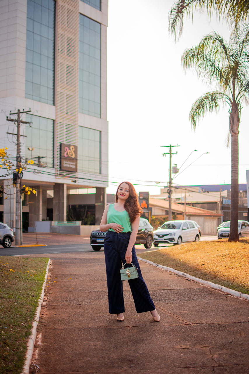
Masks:
[[[21,373],[48,260],[0,257],[0,374]]]

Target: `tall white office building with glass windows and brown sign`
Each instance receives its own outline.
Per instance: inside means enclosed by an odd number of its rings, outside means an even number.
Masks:
[[[1,1],[0,117],[6,123],[8,111],[30,110],[22,114],[28,123],[20,132],[22,161],[34,160],[22,182],[37,191],[22,204],[27,227],[39,232],[39,222],[76,218],[69,211],[79,218],[77,206],[85,213],[90,207],[91,219],[86,213],[82,223],[93,222],[95,214],[98,224],[108,186],[108,0],[26,4]],[[9,126],[4,134],[15,133]],[[13,137],[6,135],[3,146],[15,154]],[[3,199],[0,214],[15,229],[13,196]]]

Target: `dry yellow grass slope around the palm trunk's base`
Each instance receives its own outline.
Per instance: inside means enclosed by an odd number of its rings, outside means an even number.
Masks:
[[[191,242],[144,252],[139,257],[205,281],[249,294],[249,239]]]

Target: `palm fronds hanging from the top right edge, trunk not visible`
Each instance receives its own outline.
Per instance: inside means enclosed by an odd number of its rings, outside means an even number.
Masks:
[[[239,22],[246,20],[249,14],[249,0],[178,0],[169,13],[169,30],[172,34],[182,34],[183,18],[193,16],[193,10],[201,13],[207,11],[208,16],[215,12],[219,17],[227,19],[234,28]]]

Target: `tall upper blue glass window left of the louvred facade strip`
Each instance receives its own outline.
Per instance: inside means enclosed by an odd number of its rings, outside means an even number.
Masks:
[[[27,0],[25,97],[54,104],[55,1]]]

